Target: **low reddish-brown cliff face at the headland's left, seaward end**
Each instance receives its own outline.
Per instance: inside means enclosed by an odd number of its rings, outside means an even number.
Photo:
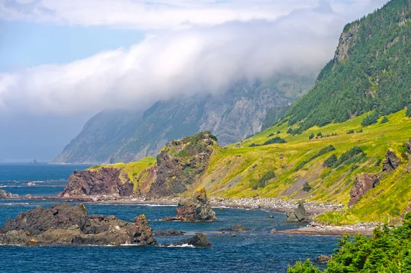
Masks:
[[[123,181],[121,179],[123,176]],[[130,196],[133,183],[121,173],[121,169],[101,167],[74,171],[60,198],[83,197],[87,195]]]

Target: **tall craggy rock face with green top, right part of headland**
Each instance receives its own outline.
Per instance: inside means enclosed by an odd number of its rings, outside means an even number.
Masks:
[[[157,156],[157,178],[147,196],[171,196],[186,191],[208,167],[215,143],[216,138],[206,131],[164,146]]]

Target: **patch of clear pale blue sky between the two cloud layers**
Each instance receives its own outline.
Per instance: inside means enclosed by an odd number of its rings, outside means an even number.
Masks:
[[[145,36],[138,29],[22,21],[0,21],[0,32],[0,72],[71,62],[135,45]]]

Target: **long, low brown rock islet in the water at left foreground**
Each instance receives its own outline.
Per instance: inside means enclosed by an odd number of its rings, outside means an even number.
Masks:
[[[113,215],[88,215],[84,204],[37,207],[8,219],[0,228],[0,244],[13,245],[156,245],[145,215],[124,222]]]

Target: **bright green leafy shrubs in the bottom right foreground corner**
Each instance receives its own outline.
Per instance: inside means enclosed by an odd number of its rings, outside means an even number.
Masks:
[[[371,237],[344,236],[327,263],[325,273],[411,272],[411,213],[401,226],[375,228]],[[288,273],[321,272],[309,260],[297,262]]]

